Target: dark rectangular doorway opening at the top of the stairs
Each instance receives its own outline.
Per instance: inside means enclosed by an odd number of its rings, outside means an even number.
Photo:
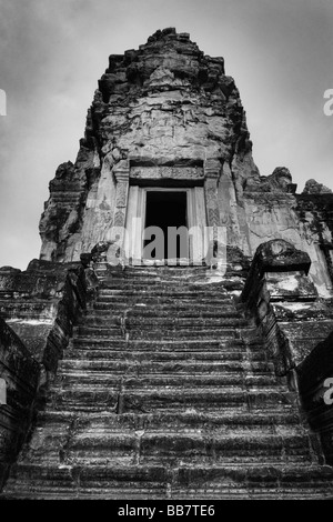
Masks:
[[[189,241],[184,229],[188,227],[186,210],[186,192],[147,191],[145,229],[158,227],[163,232],[163,237],[152,233],[144,237],[145,259],[189,257]],[[182,233],[175,235],[175,228],[180,227],[183,228],[180,231]],[[157,243],[158,240],[159,243]],[[149,244],[151,248],[147,248]],[[152,248],[153,244],[157,248]]]

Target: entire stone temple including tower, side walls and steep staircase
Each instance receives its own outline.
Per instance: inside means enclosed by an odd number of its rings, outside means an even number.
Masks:
[[[2,498],[333,498],[332,215],[260,174],[223,58],[111,54],[40,259],[0,269]]]

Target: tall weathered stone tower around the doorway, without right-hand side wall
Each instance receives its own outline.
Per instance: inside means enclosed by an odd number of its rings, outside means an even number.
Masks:
[[[151,224],[160,224],[155,201],[169,219],[184,207],[183,221],[174,217],[173,224],[228,223],[229,243],[249,253],[238,201],[245,183],[260,183],[251,149],[223,58],[204,56],[189,34],[158,31],[138,51],[110,56],[78,159],[60,165],[50,183],[41,259],[79,260],[97,242],[114,239],[112,228],[119,227],[135,242],[129,254],[141,258],[142,230],[132,238],[132,219],[144,227],[150,215]],[[204,231],[194,238],[192,257],[204,240]]]

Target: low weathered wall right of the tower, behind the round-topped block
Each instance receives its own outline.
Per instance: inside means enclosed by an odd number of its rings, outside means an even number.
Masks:
[[[262,178],[260,184],[249,181],[243,194],[245,230],[252,255],[261,243],[272,239],[284,239],[306,251],[312,281],[321,297],[331,298],[331,258],[323,245],[332,244],[333,194],[313,192],[316,185],[306,185],[305,193],[295,194],[291,174],[283,168]]]

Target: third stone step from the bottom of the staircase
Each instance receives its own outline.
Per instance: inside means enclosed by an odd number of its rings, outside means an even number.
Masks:
[[[210,413],[198,412],[194,409],[188,409],[184,412],[152,412],[152,413],[122,413],[117,414],[109,411],[91,412],[85,415],[71,410],[52,410],[49,405],[47,410],[40,411],[37,418],[37,430],[44,430],[44,433],[53,435],[54,432],[63,432],[63,429],[72,426],[74,431],[78,429],[92,430],[114,430],[124,432],[137,432],[144,430],[145,432],[161,431],[163,433],[170,431],[192,432],[193,430],[203,432],[221,432],[232,433],[235,430],[246,433],[249,430],[256,430],[266,433],[283,434],[304,433],[305,426],[301,423],[300,414],[295,411],[276,411],[269,409],[253,412],[238,412],[229,409]],[[306,431],[307,432],[307,431]],[[40,436],[40,435],[38,435]]]

